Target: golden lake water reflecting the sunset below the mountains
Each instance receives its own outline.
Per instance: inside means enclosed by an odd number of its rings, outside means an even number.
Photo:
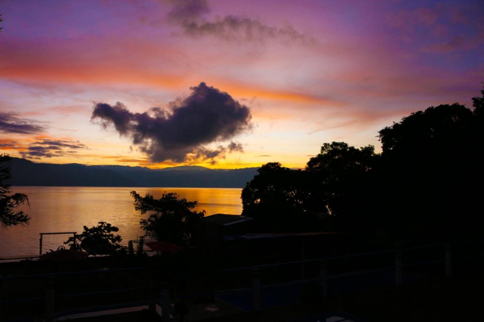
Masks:
[[[188,201],[198,201],[197,210],[206,215],[242,212],[242,189],[224,188],[119,188],[119,187],[13,187],[29,197],[30,208],[23,206],[30,217],[30,225],[0,228],[0,258],[37,256],[39,233],[82,232],[83,226],[92,227],[106,221],[120,230],[123,244],[142,236],[139,227],[141,214],[133,206],[130,190],[142,196],[151,193],[159,198],[164,191],[176,192]],[[144,215],[143,218],[146,218]],[[43,249],[57,249],[70,235],[44,235]],[[45,252],[45,251],[43,251]]]

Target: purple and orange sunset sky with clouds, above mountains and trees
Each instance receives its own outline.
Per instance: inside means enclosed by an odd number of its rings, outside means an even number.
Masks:
[[[484,81],[482,10],[482,0],[2,0],[0,152],[243,168],[304,167],[332,141],[379,151],[378,130],[412,111],[471,107]]]

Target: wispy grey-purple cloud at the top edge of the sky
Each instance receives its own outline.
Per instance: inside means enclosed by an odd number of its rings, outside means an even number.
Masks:
[[[315,44],[315,39],[287,25],[274,27],[257,19],[238,15],[226,15],[207,19],[210,12],[206,0],[168,0],[173,4],[168,13],[168,21],[192,37],[213,36],[226,41],[255,41],[264,43],[267,40],[279,40],[286,43]]]

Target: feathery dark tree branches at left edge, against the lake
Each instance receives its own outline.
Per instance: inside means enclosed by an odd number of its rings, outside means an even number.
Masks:
[[[12,193],[8,181],[11,177],[11,167],[8,155],[0,155],[0,225],[3,229],[11,226],[27,226],[30,216],[22,210],[16,210],[19,205],[29,205],[29,198],[24,193]]]

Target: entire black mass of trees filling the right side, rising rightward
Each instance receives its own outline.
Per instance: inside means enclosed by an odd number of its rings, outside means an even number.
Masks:
[[[478,236],[481,93],[472,99],[473,111],[459,103],[431,106],[385,127],[378,132],[380,154],[373,146],[333,142],[304,171],[263,165],[242,190],[243,214],[286,222],[272,224],[275,230],[295,230],[302,214],[328,211],[337,230],[366,238]]]

